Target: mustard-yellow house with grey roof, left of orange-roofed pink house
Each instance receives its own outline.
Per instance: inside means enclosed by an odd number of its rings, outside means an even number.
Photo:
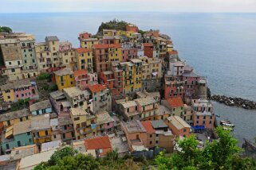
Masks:
[[[70,68],[63,68],[61,70],[54,71],[54,75],[55,82],[59,91],[67,87],[76,86],[73,71]]]

